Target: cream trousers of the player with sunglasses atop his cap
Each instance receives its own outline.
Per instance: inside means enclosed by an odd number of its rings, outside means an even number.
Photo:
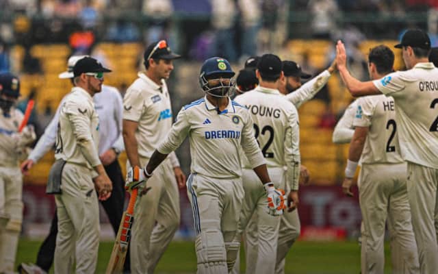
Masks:
[[[140,158],[145,166],[146,158]],[[138,196],[132,226],[131,273],[153,273],[179,227],[179,192],[175,172],[166,159],[146,183],[151,190]],[[155,224],[156,223],[156,224]]]

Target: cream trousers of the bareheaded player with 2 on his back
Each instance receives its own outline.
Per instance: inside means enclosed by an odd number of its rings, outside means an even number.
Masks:
[[[392,273],[419,273],[407,198],[407,166],[363,164],[359,174],[361,273],[384,273],[385,223],[391,236]]]

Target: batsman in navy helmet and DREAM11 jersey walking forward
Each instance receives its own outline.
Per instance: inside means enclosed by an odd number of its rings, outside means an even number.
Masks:
[[[205,97],[181,109],[177,122],[137,179],[141,183],[151,177],[168,153],[189,137],[192,165],[187,188],[196,231],[197,273],[231,271],[239,251],[240,242],[233,239],[244,199],[240,149],[262,183],[259,189],[265,197],[261,201],[266,207],[265,214],[283,213],[283,194],[270,180],[253,134],[250,113],[229,99],[234,88],[233,75],[229,62],[223,58],[209,58],[204,62],[199,82],[206,92]],[[138,182],[127,179],[128,186]]]

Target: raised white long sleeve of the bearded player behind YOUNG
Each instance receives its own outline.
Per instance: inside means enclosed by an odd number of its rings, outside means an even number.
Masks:
[[[306,82],[297,90],[290,92],[286,95],[287,100],[295,105],[295,108],[300,108],[302,103],[309,101],[312,99],[318,91],[321,90],[325,84],[329,81],[330,78],[329,71],[325,70],[319,75],[313,77],[310,81]]]

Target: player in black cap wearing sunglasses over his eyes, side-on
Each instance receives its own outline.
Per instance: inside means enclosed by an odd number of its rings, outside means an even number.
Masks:
[[[99,116],[92,97],[101,92],[103,73],[110,72],[94,58],[73,67],[75,87],[61,107],[55,145],[56,162],[47,190],[55,192],[58,233],[55,273],[96,271],[99,249],[99,203],[111,195],[112,182],[99,159]],[[97,195],[96,191],[97,190]]]

